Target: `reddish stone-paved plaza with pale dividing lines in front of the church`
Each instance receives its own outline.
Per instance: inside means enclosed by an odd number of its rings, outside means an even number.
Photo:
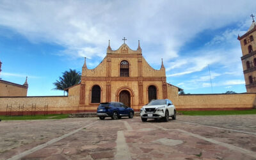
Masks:
[[[256,159],[255,115],[0,122],[0,159]]]

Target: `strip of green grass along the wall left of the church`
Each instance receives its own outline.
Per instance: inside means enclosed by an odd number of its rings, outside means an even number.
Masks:
[[[68,114],[64,115],[35,115],[35,116],[0,116],[1,120],[49,120],[68,118]]]

